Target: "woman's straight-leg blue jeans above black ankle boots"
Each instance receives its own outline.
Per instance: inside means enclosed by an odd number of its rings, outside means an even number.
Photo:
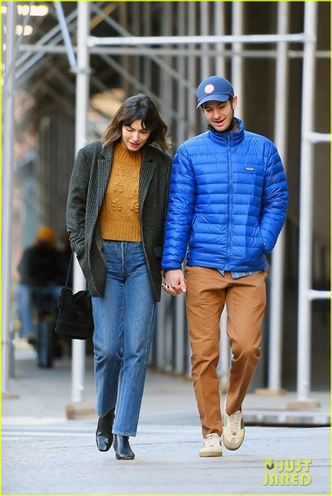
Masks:
[[[104,242],[106,286],[92,298],[97,415],[116,407],[113,433],[136,436],[155,326],[155,298],[141,243]]]

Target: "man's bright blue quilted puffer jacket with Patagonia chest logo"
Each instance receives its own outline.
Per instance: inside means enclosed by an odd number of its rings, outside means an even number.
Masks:
[[[162,268],[265,268],[284,224],[288,191],[270,139],[208,130],[180,146],[172,165]]]

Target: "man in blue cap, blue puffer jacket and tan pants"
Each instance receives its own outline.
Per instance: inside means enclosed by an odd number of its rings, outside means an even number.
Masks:
[[[198,86],[208,130],[179,147],[172,166],[162,268],[167,293],[186,291],[191,364],[202,423],[200,456],[244,439],[242,401],[260,359],[265,254],[284,224],[288,193],[275,145],[244,130],[227,79]],[[181,263],[186,259],[186,280]],[[219,320],[227,308],[233,352],[221,422]]]

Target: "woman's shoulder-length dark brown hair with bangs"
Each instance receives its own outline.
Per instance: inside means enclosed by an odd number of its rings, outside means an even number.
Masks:
[[[169,148],[170,139],[167,138],[167,124],[160,117],[155,103],[143,93],[127,98],[121,104],[120,109],[102,134],[102,146],[118,142],[122,137],[123,125],[130,125],[134,120],[141,120],[144,128],[151,131],[147,143],[159,146],[162,151]]]

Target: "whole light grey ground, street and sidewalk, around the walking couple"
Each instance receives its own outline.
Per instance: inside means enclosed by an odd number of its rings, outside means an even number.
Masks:
[[[137,437],[131,441],[136,458],[119,462],[113,448],[98,452],[95,415],[66,418],[71,401],[68,359],[45,370],[36,367],[31,353],[21,352],[15,373],[10,387],[19,397],[2,402],[3,494],[330,493],[328,427],[249,426],[240,450],[223,448],[221,458],[200,458],[202,435],[191,381],[149,371]],[[321,402],[317,415],[329,417],[328,394],[312,396]],[[85,399],[91,405],[95,400],[92,357],[87,357]],[[291,414],[285,406],[293,399],[293,394],[248,394],[247,425],[250,415],[263,411]],[[312,460],[310,485],[294,485],[295,479],[291,486],[263,485],[268,457]]]

